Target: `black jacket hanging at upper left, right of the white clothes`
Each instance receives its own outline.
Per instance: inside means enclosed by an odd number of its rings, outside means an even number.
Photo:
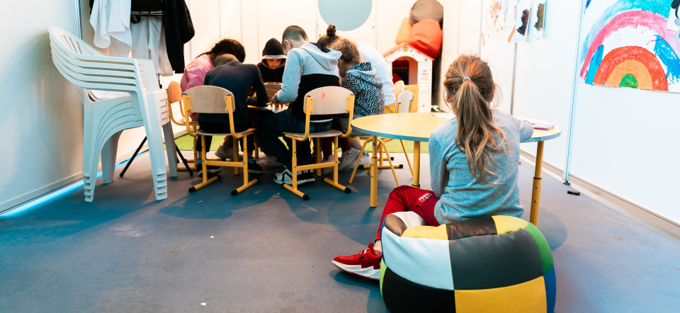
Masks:
[[[191,15],[184,0],[165,0],[163,4],[163,25],[168,59],[175,73],[183,73],[184,44],[193,38],[196,31],[193,30]]]

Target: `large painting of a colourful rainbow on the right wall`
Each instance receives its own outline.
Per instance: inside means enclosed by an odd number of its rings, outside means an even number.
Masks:
[[[680,0],[598,2],[583,16],[579,76],[584,82],[680,93],[680,40],[668,27],[676,23],[674,6]]]

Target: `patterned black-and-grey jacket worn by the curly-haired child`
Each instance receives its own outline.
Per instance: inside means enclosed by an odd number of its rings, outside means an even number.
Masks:
[[[370,63],[359,63],[348,70],[342,79],[342,88],[354,93],[353,118],[385,114],[382,80]]]

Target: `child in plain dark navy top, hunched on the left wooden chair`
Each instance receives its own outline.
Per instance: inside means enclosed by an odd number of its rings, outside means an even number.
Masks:
[[[234,104],[236,107],[233,114],[235,132],[242,132],[249,129],[250,123],[246,115],[248,110],[246,100],[251,88],[255,89],[255,92],[258,95],[264,95],[257,97],[257,106],[266,107],[269,101],[267,91],[264,88],[262,77],[260,76],[257,67],[253,64],[242,64],[234,57],[234,55],[225,54],[217,57],[217,59],[215,59],[215,68],[211,69],[208,74],[205,74],[205,81],[203,81],[203,84],[206,86],[221,87],[234,94]],[[200,113],[198,115],[198,125],[200,126],[200,129],[205,132],[231,132],[229,128],[229,115],[227,114]],[[210,149],[211,142],[212,137],[206,136],[205,146],[208,147],[208,149]],[[243,141],[241,141],[241,145],[243,145]],[[198,149],[199,147],[197,147],[198,151],[200,151],[200,149]],[[255,146],[251,136],[248,138],[248,147],[246,148],[249,163],[248,172],[263,173],[262,168],[255,163],[255,159],[252,156]],[[246,156],[244,155],[244,157]],[[213,169],[208,169],[208,176],[210,177],[211,174],[214,175],[219,172],[218,169],[220,169],[218,166],[213,166]]]

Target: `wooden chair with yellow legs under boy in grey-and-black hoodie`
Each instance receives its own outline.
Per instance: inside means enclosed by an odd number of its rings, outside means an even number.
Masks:
[[[284,132],[285,137],[293,141],[293,186],[283,183],[283,188],[290,190],[304,200],[310,200],[310,196],[297,190],[297,172],[314,170],[317,176],[321,176],[321,169],[333,168],[333,180],[324,177],[324,181],[335,188],[351,193],[351,190],[338,183],[338,137],[348,137],[352,127],[348,127],[346,133],[339,130],[327,130],[325,132],[310,133],[311,115],[334,115],[349,113],[349,120],[352,120],[354,113],[354,93],[347,89],[335,86],[314,89],[305,95],[305,133]],[[314,149],[317,154],[317,164],[297,165],[297,142],[307,144],[307,139],[314,140]],[[321,163],[321,151],[319,144],[320,138],[333,138],[333,151],[335,162]]]

